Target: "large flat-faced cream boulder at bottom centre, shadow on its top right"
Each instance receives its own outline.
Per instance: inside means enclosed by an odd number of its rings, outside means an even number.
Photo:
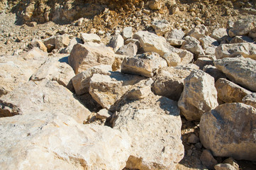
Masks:
[[[113,128],[128,133],[132,152],[128,169],[175,169],[184,157],[181,140],[182,121],[177,103],[150,94],[121,107]]]

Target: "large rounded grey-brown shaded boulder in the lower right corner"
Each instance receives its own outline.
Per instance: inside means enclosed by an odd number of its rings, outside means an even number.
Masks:
[[[216,157],[256,160],[256,109],[244,103],[225,103],[204,113],[200,140]]]

